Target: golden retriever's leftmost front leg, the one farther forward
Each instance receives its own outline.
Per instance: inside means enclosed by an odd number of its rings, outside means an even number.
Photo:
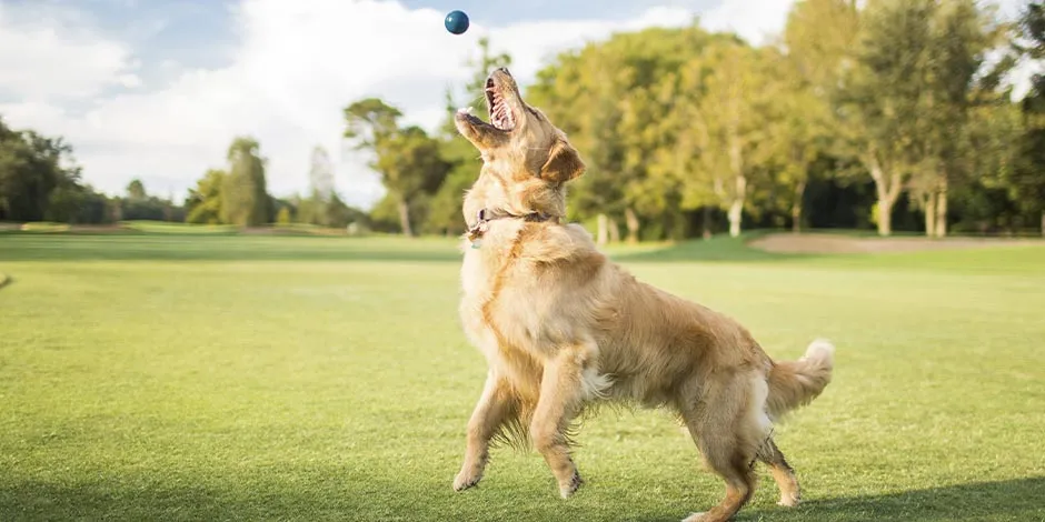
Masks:
[[[508,384],[490,371],[479,402],[468,420],[465,462],[454,480],[455,491],[471,488],[482,479],[482,471],[489,460],[490,440],[515,413],[515,409]]]

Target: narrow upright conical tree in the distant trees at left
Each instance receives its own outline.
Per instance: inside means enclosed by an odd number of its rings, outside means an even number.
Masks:
[[[222,221],[240,227],[271,222],[271,202],[266,188],[265,160],[257,140],[239,137],[229,145],[229,171],[221,187]]]

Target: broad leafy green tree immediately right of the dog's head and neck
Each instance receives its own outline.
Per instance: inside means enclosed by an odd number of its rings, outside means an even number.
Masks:
[[[538,73],[530,101],[569,134],[589,165],[571,183],[571,214],[597,218],[608,229],[599,238],[615,235],[617,219],[624,219],[628,241],[683,234],[685,173],[667,160],[677,144],[666,121],[678,92],[673,81],[684,62],[717,38],[732,39],[709,36],[696,23],[617,33],[560,54]]]

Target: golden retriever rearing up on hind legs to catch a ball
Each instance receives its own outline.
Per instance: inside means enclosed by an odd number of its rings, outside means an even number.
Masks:
[[[506,68],[485,94],[489,122],[470,110],[458,132],[482,167],[465,192],[460,319],[488,372],[467,424],[454,490],[482,478],[491,441],[533,444],[565,499],[583,481],[571,422],[604,402],[677,412],[726,494],[686,522],[732,518],[755,489],[760,461],[782,505],[798,481],[773,422],[830,382],[834,345],[817,339],[797,361],[775,362],[735,320],[636,280],[565,222],[566,184],[586,171],[567,135],[527,104]]]

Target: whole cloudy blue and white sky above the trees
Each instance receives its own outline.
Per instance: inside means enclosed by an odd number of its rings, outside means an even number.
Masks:
[[[511,54],[525,87],[555,54],[619,30],[699,17],[757,44],[783,28],[792,3],[0,0],[0,117],[63,137],[97,190],[123,193],[138,178],[175,201],[207,169],[226,165],[237,135],[259,141],[270,193],[307,193],[309,158],[321,145],[338,192],[368,208],[384,189],[341,139],[344,108],[376,96],[400,108],[405,123],[435,129],[480,37]],[[1018,3],[1003,1],[1003,12]],[[455,9],[471,19],[460,36],[442,26]]]

